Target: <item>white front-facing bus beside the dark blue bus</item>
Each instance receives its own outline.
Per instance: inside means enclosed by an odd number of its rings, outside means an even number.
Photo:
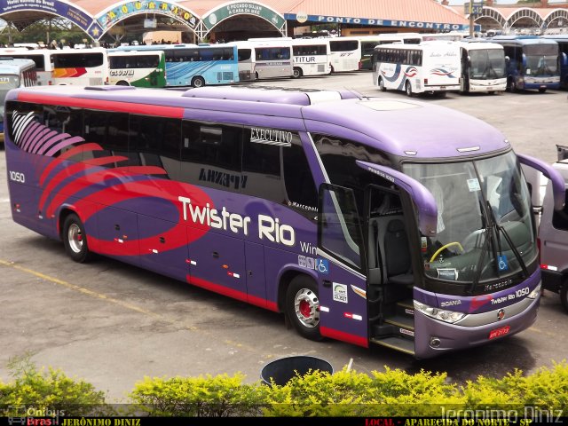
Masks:
[[[505,51],[499,43],[460,42],[461,88],[463,92],[505,91],[507,67]]]

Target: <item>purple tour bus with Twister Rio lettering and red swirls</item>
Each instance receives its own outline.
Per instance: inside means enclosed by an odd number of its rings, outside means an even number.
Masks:
[[[274,312],[304,337],[425,359],[537,314],[525,164],[498,130],[351,92],[10,91],[13,219],[76,262],[114,257]]]

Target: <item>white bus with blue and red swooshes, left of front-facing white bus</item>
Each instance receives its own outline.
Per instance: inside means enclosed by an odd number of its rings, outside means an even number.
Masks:
[[[382,44],[373,54],[373,84],[381,91],[393,89],[446,96],[460,91],[460,44],[422,42]]]

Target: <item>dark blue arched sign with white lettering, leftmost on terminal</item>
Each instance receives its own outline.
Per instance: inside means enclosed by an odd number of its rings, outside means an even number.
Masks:
[[[91,26],[92,17],[73,4],[59,0],[0,0],[0,16],[20,11],[48,12],[70,20],[83,31]]]

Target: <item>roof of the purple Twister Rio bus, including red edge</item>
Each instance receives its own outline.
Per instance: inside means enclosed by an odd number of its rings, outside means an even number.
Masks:
[[[272,126],[279,128],[286,122],[296,130],[357,138],[368,146],[410,160],[457,158],[510,147],[499,130],[453,109],[410,99],[360,99],[349,91],[247,86],[166,91],[69,85],[22,88],[10,92],[8,100],[12,99],[138,114],[159,114],[162,110],[179,118],[201,116],[212,121],[217,120],[217,114],[224,120],[242,124],[250,123],[251,116],[270,115],[270,121],[263,120],[265,127],[273,122]],[[345,114],[346,111],[349,114]]]

